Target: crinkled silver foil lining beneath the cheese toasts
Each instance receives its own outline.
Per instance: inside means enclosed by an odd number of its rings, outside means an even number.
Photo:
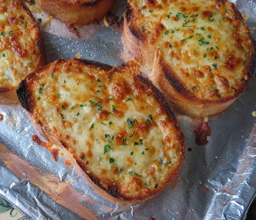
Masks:
[[[256,27],[256,1],[232,2],[248,17],[249,28]],[[125,1],[116,1],[113,11],[119,16],[124,8]],[[48,19],[42,12],[35,16]],[[47,62],[77,53],[113,66],[124,62],[122,31],[103,22],[79,31],[78,40],[56,20],[42,28]],[[136,205],[100,197],[76,166],[65,165],[65,157],[55,162],[33,143],[36,131],[19,104],[0,105],[0,195],[31,219],[244,219],[256,194],[255,94],[254,79],[227,113],[209,119],[207,146],[195,145],[196,122],[178,116],[187,148],[179,176],[162,193]]]

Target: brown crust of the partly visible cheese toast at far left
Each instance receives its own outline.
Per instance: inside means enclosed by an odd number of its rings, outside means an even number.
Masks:
[[[17,3],[20,3],[22,5],[22,8],[24,12],[29,16],[29,19],[31,19],[32,26],[36,29],[36,42],[35,45],[38,47],[38,51],[40,51],[40,54],[38,55],[38,60],[35,64],[35,68],[31,70],[33,72],[37,68],[43,67],[45,65],[45,51],[44,51],[44,42],[42,41],[40,28],[38,26],[38,23],[36,22],[35,18],[33,17],[32,13],[30,12],[28,6],[22,1],[17,0]],[[29,72],[28,72],[29,74]],[[27,75],[28,75],[27,74]],[[26,75],[24,75],[26,77]],[[19,102],[16,94],[17,85],[15,86],[0,86],[0,104],[16,104]]]

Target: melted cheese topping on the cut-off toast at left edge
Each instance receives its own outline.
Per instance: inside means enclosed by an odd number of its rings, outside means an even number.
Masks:
[[[40,33],[19,1],[0,1],[0,88],[17,86],[40,59]]]

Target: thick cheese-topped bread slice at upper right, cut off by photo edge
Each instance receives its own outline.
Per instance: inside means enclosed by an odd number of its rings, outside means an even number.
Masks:
[[[255,43],[228,1],[128,1],[125,44],[180,113],[224,111],[255,75]]]

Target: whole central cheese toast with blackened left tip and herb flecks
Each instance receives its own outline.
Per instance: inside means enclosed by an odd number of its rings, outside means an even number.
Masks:
[[[184,136],[175,114],[133,61],[112,68],[60,59],[28,75],[17,95],[38,132],[67,148],[109,200],[147,200],[179,171]]]

